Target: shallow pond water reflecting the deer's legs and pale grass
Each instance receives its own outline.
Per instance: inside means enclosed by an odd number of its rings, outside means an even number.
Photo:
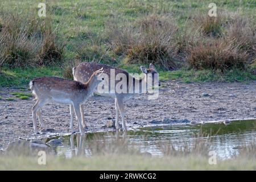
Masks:
[[[197,134],[199,137],[195,137]],[[209,137],[210,136],[210,137]],[[51,138],[53,139],[53,138]],[[52,153],[71,158],[76,155],[90,156],[96,151],[110,150],[115,146],[125,147],[124,151],[137,150],[141,153],[161,156],[163,148],[173,146],[177,150],[191,147],[198,140],[209,142],[209,148],[219,158],[228,159],[237,154],[239,147],[256,139],[256,120],[205,123],[203,125],[154,126],[122,133],[118,131],[89,133],[84,137],[64,136],[60,146],[53,147]],[[50,140],[50,139],[48,139]],[[149,154],[150,153],[150,154]]]

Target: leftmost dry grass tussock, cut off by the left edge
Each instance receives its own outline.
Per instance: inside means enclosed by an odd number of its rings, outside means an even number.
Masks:
[[[2,18],[2,30],[0,32],[0,65],[7,64],[10,67],[22,67],[28,65],[35,57],[35,43],[28,37],[26,22],[18,16]]]

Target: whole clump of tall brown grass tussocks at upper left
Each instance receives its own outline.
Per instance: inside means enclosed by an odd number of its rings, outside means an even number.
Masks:
[[[51,28],[51,20],[11,14],[0,19],[0,66],[48,65],[63,58],[64,44]]]

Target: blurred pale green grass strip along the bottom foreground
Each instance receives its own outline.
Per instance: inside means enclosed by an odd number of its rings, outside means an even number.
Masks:
[[[46,165],[39,165],[36,157],[0,156],[0,170],[256,170],[254,160],[245,157],[217,160],[216,165],[209,165],[208,160],[200,156],[107,155],[65,159],[62,155],[47,155]]]

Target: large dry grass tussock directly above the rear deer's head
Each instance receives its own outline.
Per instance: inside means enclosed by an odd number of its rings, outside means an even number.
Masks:
[[[177,26],[170,16],[150,15],[132,26],[123,23],[107,28],[112,32],[109,37],[113,51],[124,55],[127,64],[153,63],[175,69],[182,60],[177,51]]]

